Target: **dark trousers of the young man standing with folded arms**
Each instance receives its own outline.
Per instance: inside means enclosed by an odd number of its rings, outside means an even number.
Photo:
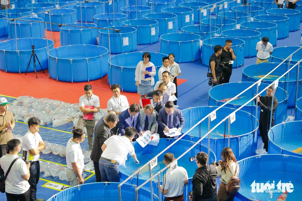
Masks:
[[[29,173],[31,176],[29,177],[28,183],[31,185],[31,197],[30,201],[36,200],[37,193],[37,183],[40,178],[40,163],[39,161],[34,161],[34,164],[29,168]]]

